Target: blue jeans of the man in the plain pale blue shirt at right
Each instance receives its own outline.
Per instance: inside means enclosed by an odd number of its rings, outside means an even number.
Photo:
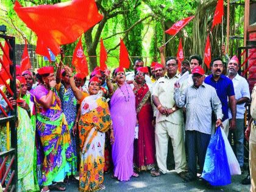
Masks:
[[[236,119],[235,130],[229,130],[229,143],[231,143],[231,134],[233,133],[234,148],[240,166],[244,166],[244,119]]]

